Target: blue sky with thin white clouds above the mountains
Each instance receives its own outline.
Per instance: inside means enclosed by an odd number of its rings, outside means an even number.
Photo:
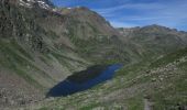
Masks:
[[[88,7],[116,28],[160,24],[187,31],[187,0],[52,0],[58,7]]]

